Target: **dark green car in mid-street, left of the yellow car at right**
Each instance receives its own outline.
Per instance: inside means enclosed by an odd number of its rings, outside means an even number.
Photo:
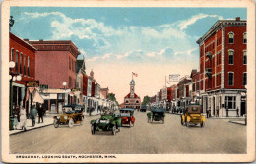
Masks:
[[[164,124],[165,117],[165,109],[164,108],[152,108],[151,112],[147,113],[148,123],[153,123],[153,121],[161,121]]]

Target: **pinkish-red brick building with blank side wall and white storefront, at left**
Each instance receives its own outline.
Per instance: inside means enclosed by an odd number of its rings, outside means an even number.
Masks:
[[[76,45],[70,40],[24,40],[37,49],[35,79],[52,89],[45,90],[48,95],[44,96],[45,107],[51,112],[58,112],[62,110],[64,103],[76,103],[77,96],[71,94],[71,90],[76,88],[76,60],[80,54]],[[64,82],[66,86],[63,85]],[[64,92],[64,87],[69,92]]]

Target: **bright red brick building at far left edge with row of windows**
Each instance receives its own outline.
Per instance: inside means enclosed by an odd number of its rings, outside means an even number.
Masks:
[[[25,100],[27,93],[26,81],[35,81],[35,52],[31,44],[9,32],[9,61],[15,62],[14,73],[20,74],[22,81],[13,81],[13,104],[20,105]],[[25,102],[25,101],[24,101]],[[29,93],[29,99],[26,101],[26,111],[32,108],[32,93]]]

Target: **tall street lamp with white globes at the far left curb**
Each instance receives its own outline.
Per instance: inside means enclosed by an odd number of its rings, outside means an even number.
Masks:
[[[10,104],[9,104],[9,112],[10,112],[10,122],[9,122],[9,130],[13,130],[13,122],[14,122],[14,116],[13,116],[13,82],[14,81],[21,81],[22,76],[19,73],[14,73],[13,68],[15,67],[15,62],[10,61],[9,62],[9,68],[11,69],[11,72],[9,73],[9,82],[10,82]]]

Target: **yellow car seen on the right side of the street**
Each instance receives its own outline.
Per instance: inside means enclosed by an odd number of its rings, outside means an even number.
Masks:
[[[189,126],[189,124],[200,124],[201,127],[205,126],[205,116],[202,115],[202,106],[190,104],[187,106],[181,117],[181,125]]]

